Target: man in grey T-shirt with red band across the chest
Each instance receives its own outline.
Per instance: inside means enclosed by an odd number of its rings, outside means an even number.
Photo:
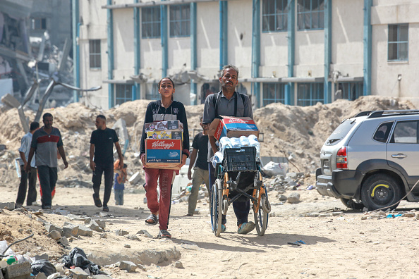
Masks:
[[[63,159],[64,168],[68,167],[61,133],[57,128],[52,127],[52,120],[51,113],[44,113],[42,116],[44,126],[34,132],[28,157],[28,162],[32,161],[36,151],[35,165],[42,189],[42,209],[51,209],[51,192],[55,189],[57,179],[57,150]],[[26,171],[30,171],[29,163],[26,164]]]

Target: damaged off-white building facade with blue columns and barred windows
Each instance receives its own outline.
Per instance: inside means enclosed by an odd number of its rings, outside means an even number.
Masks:
[[[419,0],[73,0],[75,94],[102,109],[157,99],[201,104],[219,70],[240,70],[255,108],[377,94],[415,101]]]

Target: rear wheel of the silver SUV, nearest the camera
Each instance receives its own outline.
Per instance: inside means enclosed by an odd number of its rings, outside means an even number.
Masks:
[[[371,175],[363,183],[361,199],[368,210],[396,209],[401,199],[401,189],[389,175]]]

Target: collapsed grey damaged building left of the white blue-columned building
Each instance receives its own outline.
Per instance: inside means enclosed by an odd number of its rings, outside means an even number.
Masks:
[[[32,85],[37,89],[27,106],[36,110],[51,80],[44,107],[73,101],[71,58],[71,0],[0,1],[0,97],[23,101]]]

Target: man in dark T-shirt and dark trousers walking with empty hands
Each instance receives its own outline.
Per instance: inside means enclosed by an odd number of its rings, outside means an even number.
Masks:
[[[108,212],[108,202],[112,191],[112,178],[114,178],[114,147],[119,156],[119,169],[123,169],[123,156],[121,147],[119,147],[118,135],[114,129],[107,128],[107,118],[99,114],[95,125],[97,130],[92,132],[90,137],[90,168],[93,171],[93,200],[95,206],[102,207],[99,198],[100,184],[102,183],[102,174],[104,173],[104,195],[103,211]],[[95,156],[95,158],[93,158]]]

